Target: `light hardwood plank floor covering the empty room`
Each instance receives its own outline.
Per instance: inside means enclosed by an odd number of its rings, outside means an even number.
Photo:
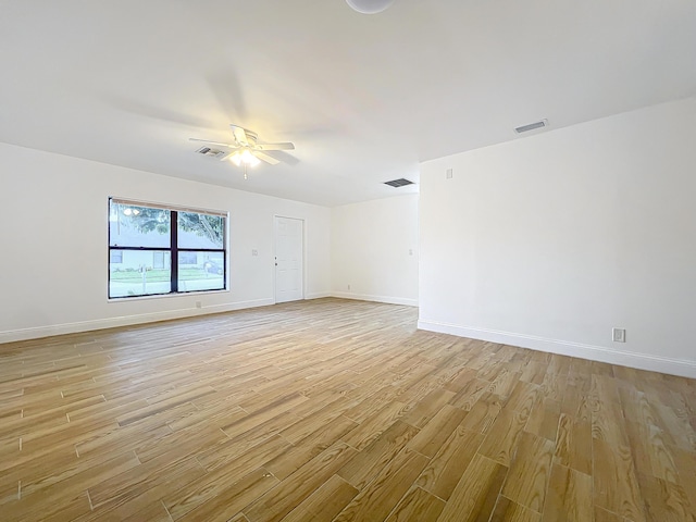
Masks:
[[[695,381],[417,313],[320,299],[0,345],[0,520],[695,520]]]

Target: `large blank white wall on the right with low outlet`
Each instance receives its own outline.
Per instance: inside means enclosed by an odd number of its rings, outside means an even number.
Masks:
[[[420,327],[696,376],[695,124],[692,98],[423,163]]]

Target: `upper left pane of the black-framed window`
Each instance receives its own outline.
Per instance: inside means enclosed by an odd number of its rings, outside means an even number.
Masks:
[[[111,247],[170,247],[169,210],[109,202]]]

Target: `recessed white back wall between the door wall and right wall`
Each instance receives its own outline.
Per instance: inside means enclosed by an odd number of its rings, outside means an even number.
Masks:
[[[334,296],[418,306],[418,194],[333,208],[331,260]]]

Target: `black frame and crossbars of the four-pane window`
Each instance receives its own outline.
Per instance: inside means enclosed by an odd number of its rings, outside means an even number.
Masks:
[[[122,199],[110,197],[108,202],[108,213],[107,215],[111,215],[111,206],[115,204],[132,204],[134,207],[140,208],[149,208],[149,209],[159,209],[170,212],[170,246],[169,247],[124,247],[124,246],[112,246],[111,245],[111,222],[108,221],[108,247],[109,247],[109,256],[107,263],[107,295],[109,300],[120,300],[120,299],[133,299],[133,298],[144,298],[144,297],[162,297],[162,296],[172,296],[172,295],[186,295],[186,294],[200,294],[206,291],[226,291],[227,290],[227,234],[229,231],[229,214],[222,211],[213,211],[213,210],[204,210],[204,209],[195,209],[195,208],[184,208],[172,204],[160,204],[160,203],[148,203],[144,201],[135,201],[130,199]],[[178,213],[179,212],[189,212],[196,214],[204,214],[204,215],[214,215],[223,219],[223,246],[222,248],[182,248],[178,246]],[[134,250],[134,251],[148,251],[148,252],[170,252],[170,263],[171,263],[171,272],[170,272],[170,291],[162,291],[157,294],[137,294],[137,295],[128,295],[128,296],[112,296],[111,295],[111,252],[113,250]],[[211,288],[211,289],[196,289],[196,290],[179,290],[178,289],[178,252],[209,252],[209,253],[222,253],[222,288]],[[123,262],[123,258],[122,258]]]

